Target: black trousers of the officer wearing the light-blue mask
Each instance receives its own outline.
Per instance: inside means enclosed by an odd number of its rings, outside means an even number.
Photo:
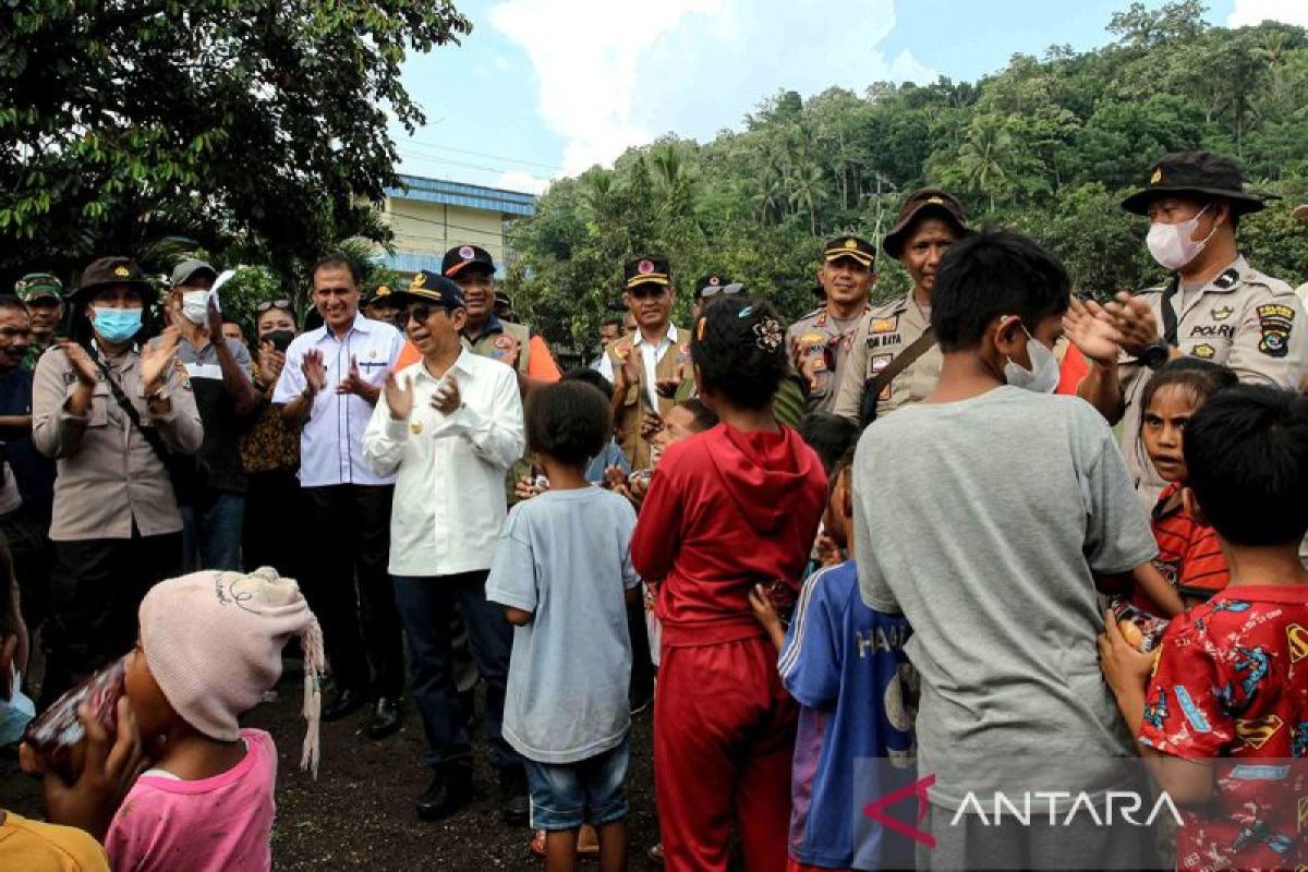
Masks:
[[[182,533],[55,543],[41,709],[136,645],[154,584],[182,573]]]

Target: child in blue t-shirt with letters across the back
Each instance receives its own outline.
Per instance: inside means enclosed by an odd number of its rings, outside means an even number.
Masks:
[[[869,800],[913,782],[918,681],[904,654],[908,621],[869,608],[858,595],[853,458],[850,451],[836,465],[823,522],[836,544],[850,549],[849,560],[808,577],[789,629],[763,586],[749,597],[781,652],[781,681],[800,706],[790,788],[791,871],[872,871],[912,864],[913,856],[903,839],[859,818]],[[875,758],[888,758],[889,767]],[[891,767],[895,778],[875,784]]]

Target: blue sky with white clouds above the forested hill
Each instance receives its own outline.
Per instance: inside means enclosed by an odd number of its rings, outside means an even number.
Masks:
[[[674,132],[739,129],[781,89],[974,81],[1015,54],[1086,51],[1130,0],[462,0],[462,46],[412,54],[403,80],[426,112],[395,126],[400,173],[513,191],[611,166]],[[1146,0],[1156,8],[1160,0]],[[1308,26],[1305,0],[1209,0],[1214,25]],[[1056,12],[1052,12],[1056,10]]]

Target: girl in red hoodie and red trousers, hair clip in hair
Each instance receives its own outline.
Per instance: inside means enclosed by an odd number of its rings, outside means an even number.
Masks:
[[[763,583],[785,608],[827,502],[821,461],[772,400],[786,373],[770,306],[725,297],[695,326],[700,399],[721,424],[675,444],[632,539],[644,578],[664,579],[654,774],[667,868],[727,868],[731,825],[749,872],[786,867],[795,707],[749,609]]]

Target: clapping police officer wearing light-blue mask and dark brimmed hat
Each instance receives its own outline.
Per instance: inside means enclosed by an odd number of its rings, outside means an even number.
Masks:
[[[156,297],[135,261],[95,260],[73,297],[75,341],[37,363],[31,438],[58,464],[43,703],[131,650],[145,591],[182,567],[169,458],[194,455],[204,430],[177,328],[137,344]]]

